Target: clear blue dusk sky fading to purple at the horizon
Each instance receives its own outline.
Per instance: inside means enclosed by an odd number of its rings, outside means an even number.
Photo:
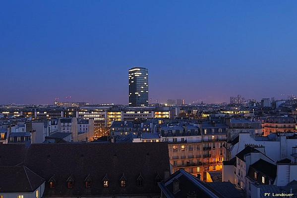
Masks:
[[[0,104],[295,94],[297,1],[0,1]]]

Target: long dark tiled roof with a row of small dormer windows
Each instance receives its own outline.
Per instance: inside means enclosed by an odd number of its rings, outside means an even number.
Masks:
[[[46,180],[44,196],[159,194],[160,189],[155,184],[157,172],[164,178],[164,170],[170,168],[167,143],[32,144],[23,151],[18,151],[18,147],[0,145],[0,150],[7,151],[1,153],[0,162],[13,156],[9,159],[12,165],[21,161],[15,157],[21,153],[24,165]],[[140,173],[143,187],[136,183]],[[106,174],[108,188],[102,185]],[[120,188],[119,183],[122,174],[126,178],[124,188]],[[55,189],[50,189],[48,181],[53,175],[57,184]],[[72,189],[66,185],[70,175],[74,180]],[[92,178],[91,188],[85,188],[84,184],[88,175]]]

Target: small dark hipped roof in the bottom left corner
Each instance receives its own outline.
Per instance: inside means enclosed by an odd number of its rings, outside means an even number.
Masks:
[[[45,180],[26,166],[0,166],[0,193],[34,192]]]

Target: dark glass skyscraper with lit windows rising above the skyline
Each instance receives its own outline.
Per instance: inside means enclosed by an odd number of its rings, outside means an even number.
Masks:
[[[129,106],[148,106],[148,70],[129,69]]]

